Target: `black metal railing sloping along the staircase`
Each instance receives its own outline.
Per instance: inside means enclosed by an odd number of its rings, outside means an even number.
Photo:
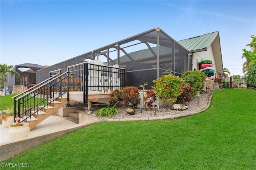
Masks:
[[[68,93],[64,88],[67,84],[64,80],[67,77],[67,72],[60,75],[56,74],[44,83],[42,82],[32,89],[16,95],[14,97],[14,117],[20,117],[24,122],[32,119],[32,116],[41,109],[50,107],[50,104],[57,101],[59,97],[66,95],[68,98]]]

